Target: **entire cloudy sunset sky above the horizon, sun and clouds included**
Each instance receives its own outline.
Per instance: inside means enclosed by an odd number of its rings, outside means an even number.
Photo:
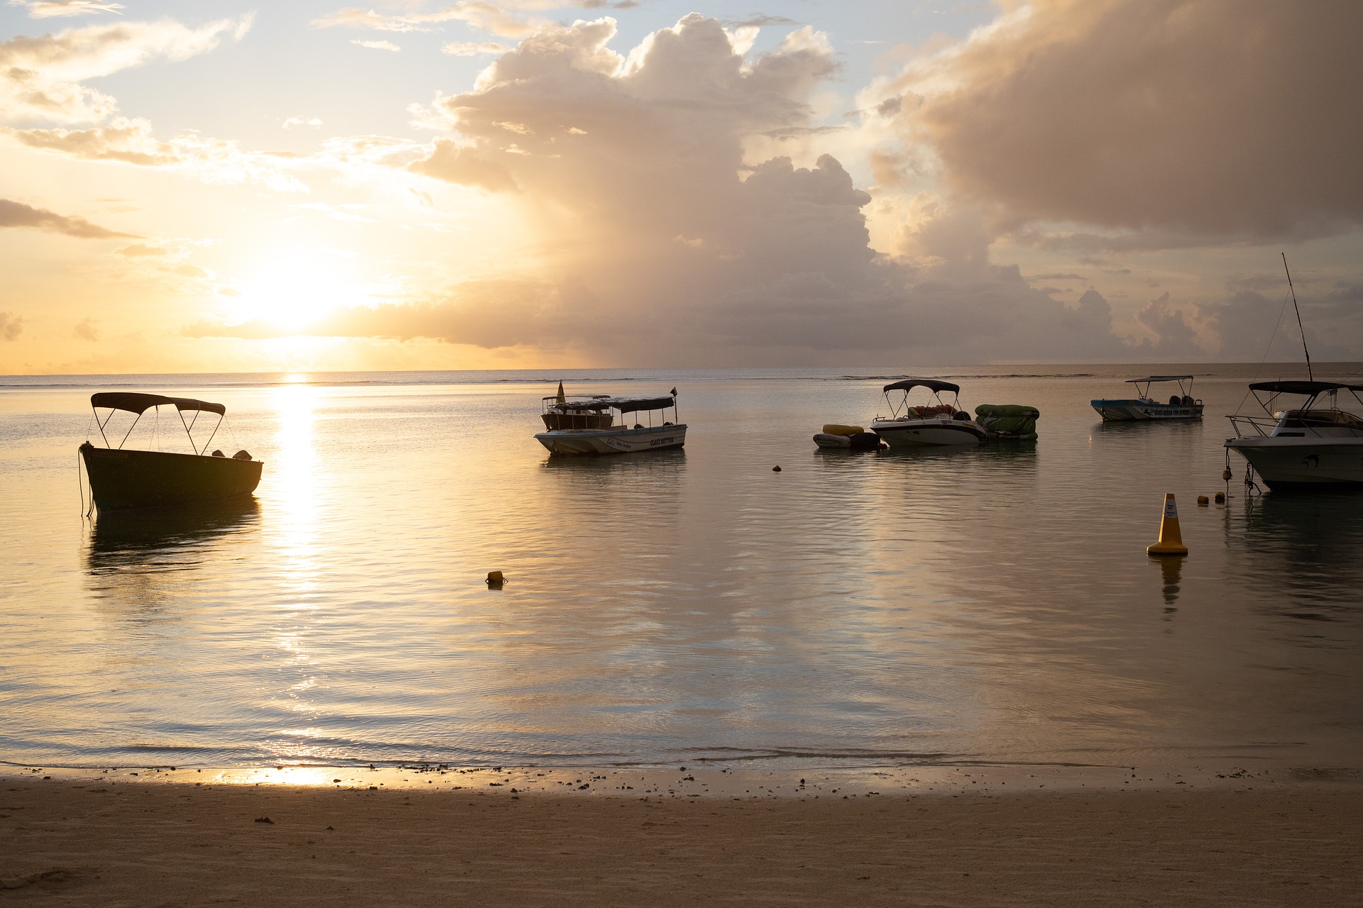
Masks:
[[[1353,0],[0,0],[0,373],[1363,361]]]

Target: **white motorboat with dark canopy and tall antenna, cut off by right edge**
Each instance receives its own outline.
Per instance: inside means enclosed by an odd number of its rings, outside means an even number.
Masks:
[[[1250,385],[1265,415],[1229,417],[1228,451],[1243,456],[1269,489],[1363,485],[1363,384],[1259,381]],[[1340,392],[1352,395],[1340,408]],[[1277,398],[1303,400],[1287,410]],[[1345,399],[1347,400],[1347,399]]]

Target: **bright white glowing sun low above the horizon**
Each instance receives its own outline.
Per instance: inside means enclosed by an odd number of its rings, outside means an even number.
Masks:
[[[239,289],[232,302],[237,319],[285,331],[313,328],[334,312],[372,304],[350,257],[334,250],[298,248],[269,255]]]

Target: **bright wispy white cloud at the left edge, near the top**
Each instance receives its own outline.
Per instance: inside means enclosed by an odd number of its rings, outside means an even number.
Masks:
[[[189,29],[161,19],[0,41],[0,121],[99,123],[117,112],[117,102],[83,82],[207,53],[225,37],[240,39],[251,23],[245,15]]]

